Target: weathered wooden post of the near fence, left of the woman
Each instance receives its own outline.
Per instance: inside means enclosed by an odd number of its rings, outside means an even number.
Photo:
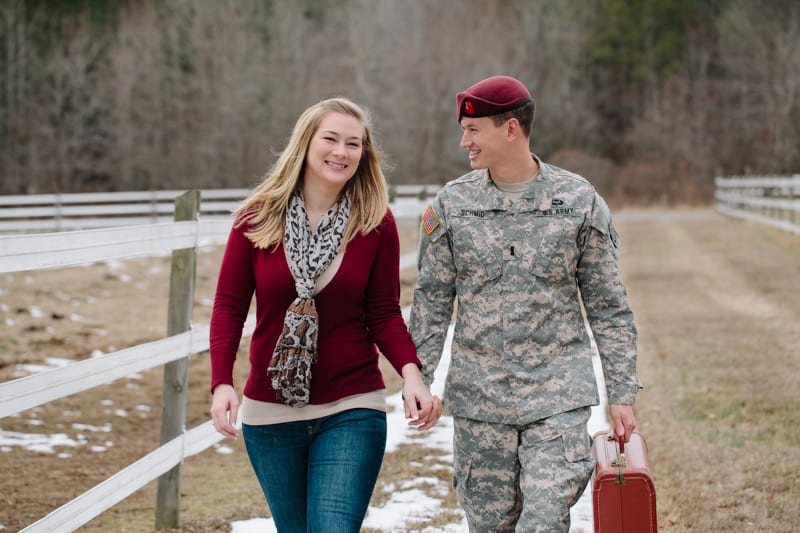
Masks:
[[[175,221],[196,220],[200,191],[192,190],[175,198]],[[197,254],[195,248],[173,250],[169,279],[167,336],[191,328]],[[186,426],[186,394],[189,354],[164,366],[164,394],[161,407],[161,445],[181,435]],[[178,527],[180,511],[181,463],[158,478],[156,529]]]

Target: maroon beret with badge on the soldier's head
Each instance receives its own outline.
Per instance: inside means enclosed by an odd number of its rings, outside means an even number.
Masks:
[[[531,93],[518,79],[492,76],[456,95],[458,121],[461,117],[488,117],[522,107],[531,101]]]

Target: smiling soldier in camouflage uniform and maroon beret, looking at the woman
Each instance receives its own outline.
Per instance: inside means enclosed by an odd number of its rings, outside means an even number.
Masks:
[[[636,326],[619,243],[583,177],[530,151],[535,104],[494,76],[458,93],[472,172],[422,217],[411,333],[430,383],[457,299],[445,407],[472,532],[568,531],[594,461],[599,404],[585,309],[618,438],[636,427]]]

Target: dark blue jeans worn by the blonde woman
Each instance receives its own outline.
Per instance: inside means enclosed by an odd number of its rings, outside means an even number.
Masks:
[[[386,448],[386,413],[242,425],[247,455],[279,533],[358,533]]]

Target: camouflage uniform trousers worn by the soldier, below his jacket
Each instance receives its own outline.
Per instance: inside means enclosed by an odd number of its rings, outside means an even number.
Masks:
[[[569,531],[594,459],[582,407],[527,426],[453,417],[453,484],[471,533]]]

